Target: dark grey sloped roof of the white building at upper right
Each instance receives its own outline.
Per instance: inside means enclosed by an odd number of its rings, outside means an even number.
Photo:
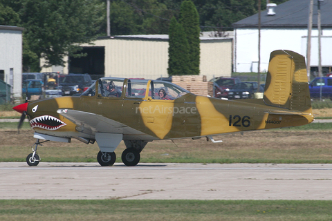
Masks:
[[[307,28],[310,0],[290,0],[274,8],[275,15],[261,11],[261,28]],[[313,27],[317,28],[317,0],[313,1]],[[320,3],[321,27],[332,28],[332,0]],[[258,13],[232,24],[234,28],[257,28]]]

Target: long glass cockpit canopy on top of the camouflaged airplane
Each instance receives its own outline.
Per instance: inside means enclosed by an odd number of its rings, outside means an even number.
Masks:
[[[168,81],[102,77],[81,96],[174,100],[187,93],[190,92]]]

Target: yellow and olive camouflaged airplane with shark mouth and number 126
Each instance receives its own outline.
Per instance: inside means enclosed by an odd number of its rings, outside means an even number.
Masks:
[[[80,97],[53,97],[14,107],[28,116],[37,139],[26,157],[37,166],[37,146],[47,141],[97,142],[101,166],[116,162],[123,140],[122,162],[136,166],[140,152],[154,140],[176,140],[301,126],[313,122],[311,99],[302,55],[291,50],[270,54],[263,99],[225,100],[194,95],[169,81],[102,77]],[[40,140],[44,140],[41,142]]]

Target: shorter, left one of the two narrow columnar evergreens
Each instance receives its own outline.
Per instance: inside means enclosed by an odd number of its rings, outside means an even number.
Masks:
[[[173,17],[169,23],[168,68],[169,76],[189,75],[189,44],[185,30]]]

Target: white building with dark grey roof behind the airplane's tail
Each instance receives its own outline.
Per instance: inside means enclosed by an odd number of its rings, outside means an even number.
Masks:
[[[261,72],[268,70],[270,52],[293,50],[306,56],[310,0],[290,0],[261,12]],[[332,67],[332,1],[321,3],[323,73]],[[258,70],[258,14],[242,19],[234,26],[234,72]],[[317,0],[313,6],[311,71],[318,66]]]

